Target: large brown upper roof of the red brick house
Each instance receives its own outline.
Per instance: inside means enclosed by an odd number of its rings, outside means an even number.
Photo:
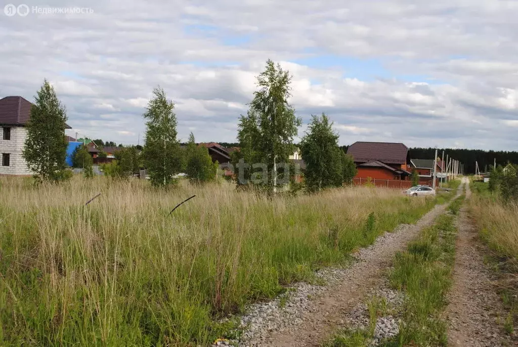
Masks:
[[[347,154],[352,155],[355,162],[380,161],[385,164],[405,164],[407,153],[407,146],[391,142],[358,141],[347,150]]]

